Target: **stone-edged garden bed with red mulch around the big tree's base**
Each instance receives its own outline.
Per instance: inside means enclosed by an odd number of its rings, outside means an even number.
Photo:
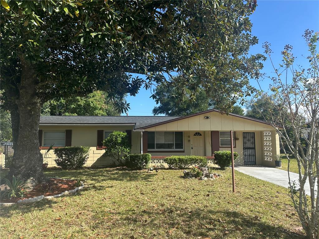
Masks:
[[[12,186],[12,185],[11,185]],[[7,186],[8,187],[8,186]],[[22,193],[9,194],[8,197],[1,198],[1,206],[9,206],[15,203],[31,203],[40,201],[42,199],[51,199],[61,197],[75,193],[84,187],[83,182],[80,178],[76,179],[62,179],[62,178],[49,178],[47,183],[42,183],[34,187],[30,192],[26,192],[25,189],[7,189],[6,191],[18,191]],[[7,192],[2,192],[1,195],[8,195]]]

